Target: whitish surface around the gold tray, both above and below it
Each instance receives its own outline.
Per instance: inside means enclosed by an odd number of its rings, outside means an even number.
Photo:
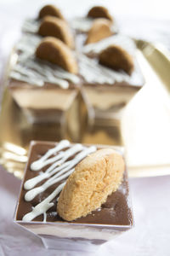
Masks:
[[[123,32],[132,35],[135,33],[136,37],[140,37],[142,34],[149,37],[150,40],[161,38],[160,40],[164,41],[165,44],[170,42],[168,39],[170,35],[170,33],[168,34],[170,27],[169,1],[87,0],[84,3],[80,0],[50,1],[50,3],[54,2],[63,9],[65,15],[82,15],[92,2],[93,4],[111,5],[111,10],[113,9],[113,13],[116,14],[116,19],[119,21]],[[45,3],[48,1],[0,0],[0,76],[3,73],[4,63],[10,49],[20,36],[22,20],[26,16],[36,15],[37,9]],[[134,19],[138,26],[132,29]],[[131,26],[127,26],[127,24],[131,24]],[[148,27],[147,24],[151,25],[152,33],[145,33],[144,27]],[[143,31],[140,30],[141,27]],[[165,40],[162,40],[162,35],[166,38]],[[122,236],[116,237],[114,241],[99,247],[96,255],[170,255],[170,176],[133,178],[130,179],[130,189],[133,201],[134,228]],[[13,223],[14,207],[19,190],[20,180],[1,168],[0,256],[80,255],[80,253],[47,251],[38,237]]]

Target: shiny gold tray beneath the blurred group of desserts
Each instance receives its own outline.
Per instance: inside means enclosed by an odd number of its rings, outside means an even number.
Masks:
[[[21,178],[32,139],[59,141],[65,137],[72,142],[125,146],[130,177],[170,174],[170,54],[159,45],[143,41],[136,44],[146,84],[127,105],[120,122],[107,129],[102,126],[87,128],[79,137],[74,124],[70,131],[54,124],[30,125],[8,89],[4,88],[0,115],[0,164]],[[72,123],[76,124],[76,117]]]

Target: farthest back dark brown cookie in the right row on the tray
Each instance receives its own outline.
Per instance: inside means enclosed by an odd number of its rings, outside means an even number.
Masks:
[[[92,9],[88,11],[88,17],[96,19],[96,18],[105,18],[107,20],[113,21],[108,9],[104,6],[94,6]]]

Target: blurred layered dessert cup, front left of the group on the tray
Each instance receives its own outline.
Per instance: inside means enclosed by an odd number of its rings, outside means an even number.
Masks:
[[[58,65],[50,62],[55,62],[54,56]],[[74,74],[77,61],[71,49],[57,38],[25,35],[17,44],[13,58],[8,88],[27,119],[31,123],[64,119],[77,97],[80,83]]]

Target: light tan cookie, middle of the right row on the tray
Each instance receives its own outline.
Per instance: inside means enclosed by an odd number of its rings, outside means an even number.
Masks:
[[[85,44],[99,42],[103,38],[111,37],[111,35],[113,35],[113,32],[111,31],[111,21],[104,18],[96,19],[88,31],[88,37]]]

